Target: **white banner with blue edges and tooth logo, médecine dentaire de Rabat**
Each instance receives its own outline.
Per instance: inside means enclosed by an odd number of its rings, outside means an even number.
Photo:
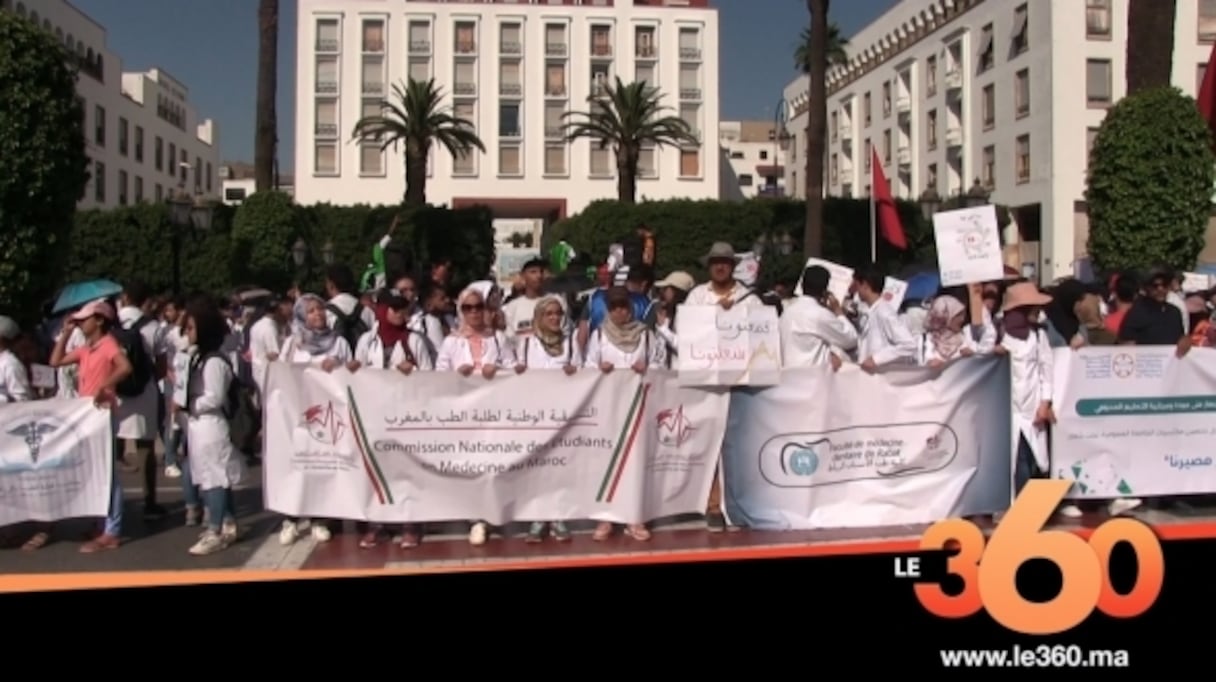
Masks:
[[[736,390],[722,446],[727,515],[764,530],[871,528],[1009,506],[1009,366],[940,374],[787,370]]]

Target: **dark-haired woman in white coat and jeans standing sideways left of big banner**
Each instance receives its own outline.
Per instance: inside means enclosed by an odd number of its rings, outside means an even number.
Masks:
[[[207,529],[190,548],[195,556],[213,554],[236,542],[237,524],[232,489],[241,483],[244,458],[229,433],[229,388],[236,381],[232,361],[223,353],[229,332],[219,308],[192,301],[186,336],[197,354],[186,384],[186,443],[190,478],[202,491]]]

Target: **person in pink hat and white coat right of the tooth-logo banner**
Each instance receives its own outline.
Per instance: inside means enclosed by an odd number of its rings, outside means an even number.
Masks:
[[[1038,316],[1052,297],[1030,282],[1013,284],[1004,292],[1001,346],[1009,356],[1013,411],[1014,492],[1021,492],[1031,478],[1049,472],[1047,427],[1055,421],[1052,411],[1054,362],[1047,332]]]

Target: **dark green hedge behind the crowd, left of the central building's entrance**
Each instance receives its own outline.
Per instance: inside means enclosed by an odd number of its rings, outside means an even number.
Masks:
[[[349,265],[358,277],[398,214],[401,221],[390,249],[409,252],[409,266],[451,258],[456,286],[489,272],[495,258],[494,225],[485,208],[304,207],[286,195],[259,192],[235,210],[219,207],[210,230],[180,232],[182,292],[224,293],[247,284],[286,291],[293,282],[319,291],[326,242],[333,243],[334,261]],[[168,208],[162,204],[78,212],[60,281],[137,278],[153,291],[170,291],[173,236]],[[292,258],[299,238],[310,250],[303,267]]]

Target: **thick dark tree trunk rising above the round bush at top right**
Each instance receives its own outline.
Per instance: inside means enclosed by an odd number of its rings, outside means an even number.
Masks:
[[[1127,94],[1170,85],[1177,0],[1127,4]]]

